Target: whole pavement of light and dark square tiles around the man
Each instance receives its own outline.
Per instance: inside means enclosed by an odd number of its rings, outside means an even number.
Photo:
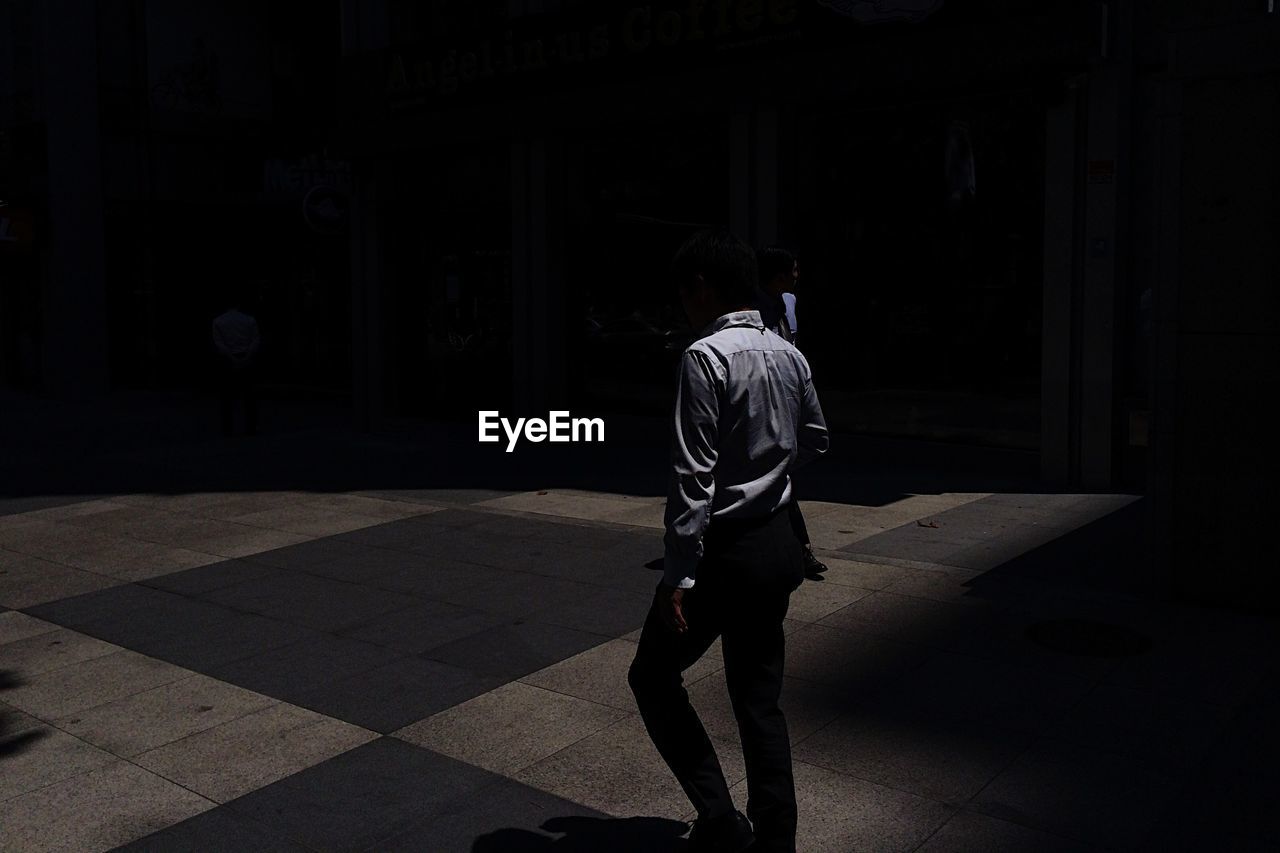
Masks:
[[[1280,844],[1275,628],[1132,594],[1108,528],[1130,503],[805,505],[831,573],[787,621],[803,850]],[[689,804],[625,684],[659,500],[22,508],[0,516],[0,850],[680,849]],[[1029,638],[1065,617],[1144,646]],[[718,651],[686,681],[745,802]]]

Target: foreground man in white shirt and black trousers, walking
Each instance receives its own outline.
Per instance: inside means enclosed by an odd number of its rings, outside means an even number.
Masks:
[[[787,506],[791,470],[826,452],[804,356],[754,310],[755,254],[726,231],[695,234],[672,275],[701,337],[680,365],[663,580],[628,681],[654,745],[698,812],[690,850],[795,850],[791,742],[778,708],[782,617],[804,558]],[[748,818],[681,674],[723,638],[742,738]]]

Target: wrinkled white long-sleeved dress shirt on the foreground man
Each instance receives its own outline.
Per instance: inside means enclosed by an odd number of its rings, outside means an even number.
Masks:
[[[827,451],[827,424],[800,351],[759,311],[718,318],[680,362],[663,580],[692,587],[713,519],[767,516],[790,471]]]

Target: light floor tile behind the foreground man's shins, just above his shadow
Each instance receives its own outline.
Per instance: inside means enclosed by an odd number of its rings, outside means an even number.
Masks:
[[[746,777],[736,743],[716,742],[730,785]],[[690,811],[689,799],[662,761],[639,715],[579,740],[515,775],[516,781],[616,817],[668,817]]]

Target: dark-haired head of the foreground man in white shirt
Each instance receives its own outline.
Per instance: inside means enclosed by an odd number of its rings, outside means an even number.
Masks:
[[[755,252],[727,228],[700,231],[685,241],[671,277],[694,328],[755,307]]]

